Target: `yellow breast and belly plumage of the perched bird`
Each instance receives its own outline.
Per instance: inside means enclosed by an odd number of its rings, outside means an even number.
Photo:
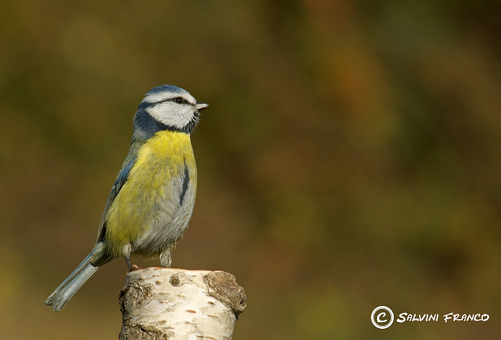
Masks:
[[[168,225],[177,209],[185,167],[196,191],[196,163],[186,133],[160,131],[138,149],[127,182],[106,218],[106,241],[113,254],[119,256],[125,245],[141,238],[159,218]]]

